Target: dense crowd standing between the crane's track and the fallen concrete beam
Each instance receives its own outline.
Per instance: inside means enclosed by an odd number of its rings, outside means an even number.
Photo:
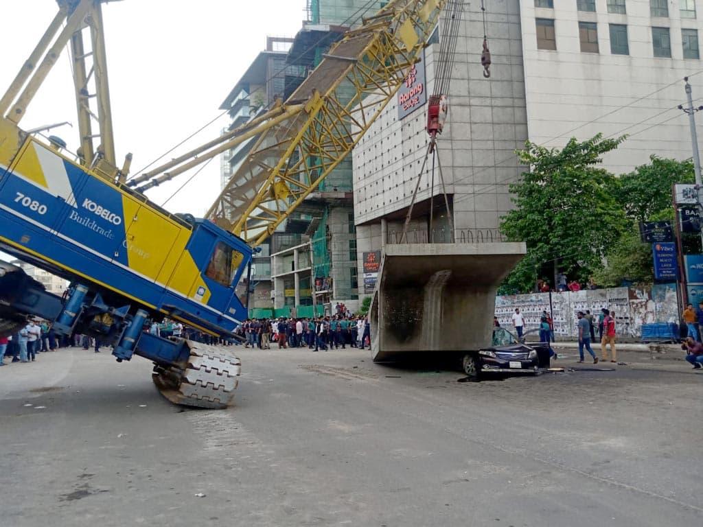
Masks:
[[[271,349],[301,348],[320,349],[352,348],[370,349],[370,325],[368,316],[352,315],[348,311],[337,315],[311,318],[250,318],[236,329],[245,341],[245,347]]]

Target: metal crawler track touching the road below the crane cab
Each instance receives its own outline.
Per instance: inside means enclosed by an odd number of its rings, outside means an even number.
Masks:
[[[226,408],[234,398],[240,360],[215,346],[192,341],[188,346],[191,356],[186,369],[154,367],[152,379],[157,389],[175,404]]]

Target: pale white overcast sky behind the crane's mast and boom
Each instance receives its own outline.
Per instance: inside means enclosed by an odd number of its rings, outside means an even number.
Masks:
[[[118,0],[103,4],[105,46],[117,164],[132,152],[131,176],[222,114],[219,106],[260,51],[266,37],[294,37],[305,18],[306,0]],[[56,0],[2,0],[3,52],[0,93],[56,15]],[[86,33],[87,34],[87,33]],[[85,37],[84,37],[85,38]],[[22,129],[63,121],[51,129],[75,152],[75,98],[68,50],[53,67]],[[191,142],[162,160],[217,137],[228,125],[220,117]],[[219,195],[219,157],[176,191],[195,170],[148,190],[170,212],[205,214]],[[171,197],[174,193],[176,195]],[[170,199],[169,199],[170,198]]]

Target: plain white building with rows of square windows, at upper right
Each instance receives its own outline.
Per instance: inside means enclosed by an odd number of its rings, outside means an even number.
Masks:
[[[530,140],[560,148],[571,136],[627,134],[604,159],[614,174],[652,154],[691,157],[678,105],[684,77],[694,105],[703,100],[701,16],[695,0],[520,0]]]

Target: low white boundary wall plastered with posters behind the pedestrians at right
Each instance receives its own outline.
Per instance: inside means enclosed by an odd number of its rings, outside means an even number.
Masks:
[[[602,308],[614,311],[617,334],[633,339],[640,338],[643,324],[678,324],[679,318],[674,283],[496,297],[496,317],[502,326],[512,327],[515,308],[520,308],[524,315],[526,330],[539,326],[542,311],[551,312],[554,332],[564,338],[576,337],[576,313],[586,313],[587,309],[596,316]]]

